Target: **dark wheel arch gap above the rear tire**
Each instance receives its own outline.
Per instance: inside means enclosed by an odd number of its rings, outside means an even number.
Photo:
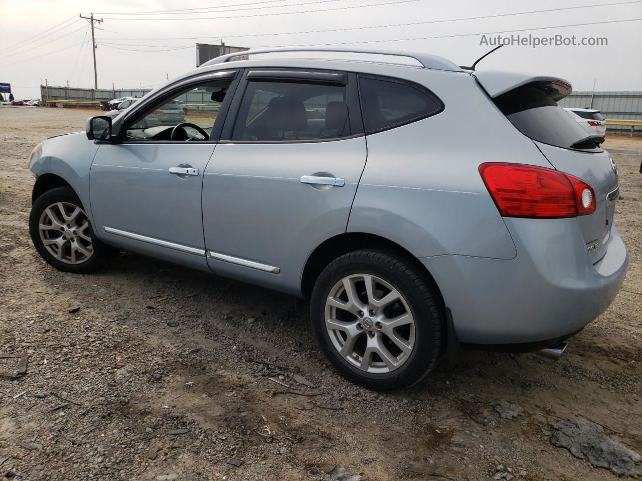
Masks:
[[[367,232],[345,232],[335,235],[334,237],[326,239],[312,251],[308,256],[308,260],[306,260],[306,265],[301,276],[301,292],[304,297],[309,299],[319,274],[330,262],[343,254],[365,248],[384,249],[401,254],[403,260],[408,262],[418,273],[423,274],[426,280],[435,287],[440,304],[444,306],[444,298],[437,282],[435,282],[432,274],[426,269],[426,266],[417,260],[415,255],[400,244],[397,244],[397,242]]]

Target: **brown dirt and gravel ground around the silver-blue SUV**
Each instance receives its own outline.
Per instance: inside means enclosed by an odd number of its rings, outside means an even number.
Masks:
[[[605,143],[627,280],[562,359],[467,351],[377,394],[329,366],[303,301],[130,253],[91,276],[40,260],[28,155],[89,115],[0,108],[0,356],[28,356],[26,375],[0,377],[0,478],[316,481],[335,464],[373,481],[616,478],[551,444],[573,416],[642,452],[642,139]]]

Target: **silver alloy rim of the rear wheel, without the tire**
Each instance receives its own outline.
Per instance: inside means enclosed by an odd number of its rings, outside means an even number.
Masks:
[[[399,369],[415,346],[415,327],[400,292],[372,274],[344,277],[325,300],[325,328],[334,348],[368,373]]]

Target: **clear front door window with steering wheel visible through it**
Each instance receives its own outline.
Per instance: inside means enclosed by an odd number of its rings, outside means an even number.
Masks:
[[[229,79],[213,81],[173,94],[138,115],[127,127],[127,137],[137,140],[208,140],[231,82]],[[186,126],[174,131],[175,126],[184,122]]]

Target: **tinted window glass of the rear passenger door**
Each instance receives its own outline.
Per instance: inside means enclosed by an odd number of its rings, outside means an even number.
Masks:
[[[249,81],[232,140],[321,140],[349,135],[345,86]]]

